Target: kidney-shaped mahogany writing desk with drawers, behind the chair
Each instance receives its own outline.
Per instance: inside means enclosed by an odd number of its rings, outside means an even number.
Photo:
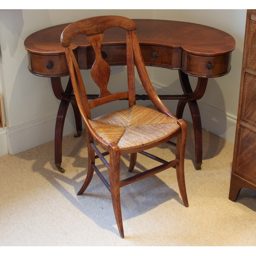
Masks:
[[[182,95],[159,95],[163,100],[178,100],[176,116],[182,118],[186,103],[192,116],[195,133],[196,166],[202,164],[202,126],[197,100],[206,90],[208,78],[226,75],[231,69],[231,52],[234,38],[215,28],[199,24],[172,20],[134,19],[137,36],[146,66],[179,70]],[[55,164],[60,172],[62,158],[63,125],[69,103],[72,104],[77,134],[82,131],[82,121],[69,80],[64,91],[61,77],[68,76],[65,50],[60,45],[60,35],[68,24],[62,24],[37,31],[24,42],[28,51],[29,71],[38,76],[50,77],[53,92],[60,100],[55,126]],[[73,48],[80,69],[90,69],[94,53],[86,37],[74,38]],[[101,53],[110,66],[126,65],[125,33],[120,28],[105,32]],[[198,77],[196,89],[191,89],[188,75]],[[96,95],[88,95],[93,99]],[[137,95],[137,99],[148,99]]]

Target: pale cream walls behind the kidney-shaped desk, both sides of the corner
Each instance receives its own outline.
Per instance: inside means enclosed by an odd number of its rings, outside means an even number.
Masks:
[[[26,37],[43,28],[108,14],[200,23],[224,30],[236,39],[231,72],[209,79],[205,96],[199,102],[203,128],[233,142],[246,10],[0,10],[0,94],[3,95],[7,125],[0,129],[0,156],[16,154],[54,139],[59,101],[53,95],[50,78],[28,71]],[[148,71],[159,93],[181,92],[177,71],[160,68]],[[125,83],[122,73],[111,79],[114,83]],[[66,84],[67,79],[62,80]],[[191,81],[194,83],[195,79]],[[175,113],[176,103],[165,103]],[[184,118],[189,120],[190,117],[185,113]],[[73,132],[75,125],[70,108],[64,134]]]

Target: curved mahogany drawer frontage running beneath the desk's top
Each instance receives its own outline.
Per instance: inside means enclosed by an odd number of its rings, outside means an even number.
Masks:
[[[166,47],[141,46],[145,65],[169,69],[182,69],[188,75],[201,77],[219,77],[231,69],[231,53],[222,56],[197,56],[182,52],[180,49]],[[81,69],[90,69],[94,62],[91,47],[78,48],[78,65]],[[125,46],[102,47],[102,55],[110,65],[126,65]],[[36,55],[29,53],[29,70],[39,76],[67,76],[69,69],[65,55]],[[182,56],[182,59],[181,59]]]

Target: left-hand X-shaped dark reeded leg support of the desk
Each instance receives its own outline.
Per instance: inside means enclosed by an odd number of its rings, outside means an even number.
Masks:
[[[52,77],[51,83],[52,83],[52,89],[55,97],[60,100],[59,109],[56,117],[56,124],[55,124],[55,138],[54,138],[55,165],[58,168],[59,172],[64,173],[65,170],[62,167],[60,167],[62,162],[62,136],[63,136],[63,127],[64,127],[64,122],[65,122],[66,114],[68,111],[69,103],[72,104],[74,114],[75,114],[77,134],[75,134],[74,137],[80,137],[81,135],[82,119],[81,119],[81,115],[80,115],[75,97],[72,94],[73,88],[72,88],[71,80],[69,79],[65,92],[63,91],[60,77]]]

